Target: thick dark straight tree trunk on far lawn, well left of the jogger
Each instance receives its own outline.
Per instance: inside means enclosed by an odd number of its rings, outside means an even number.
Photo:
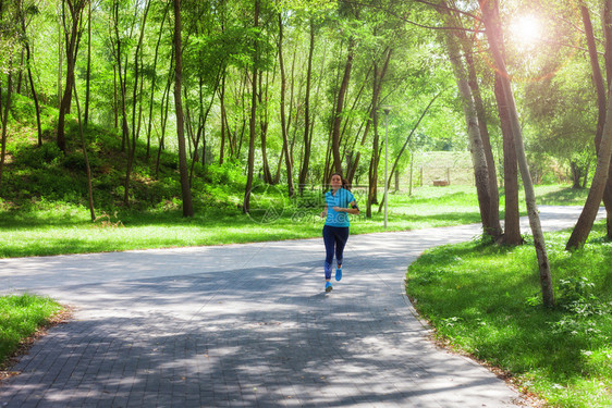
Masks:
[[[181,85],[183,82],[183,47],[181,40],[181,0],[174,0],[174,109],[176,111],[176,136],[179,137],[179,170],[181,173],[181,191],[183,196],[183,217],[194,217],[192,188],[187,170],[185,150],[185,127]]]

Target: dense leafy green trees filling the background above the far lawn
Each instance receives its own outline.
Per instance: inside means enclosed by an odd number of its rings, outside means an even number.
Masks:
[[[457,24],[472,32],[473,53],[465,55],[473,57],[481,121],[488,124],[503,185],[495,71],[479,20],[472,14],[479,4],[453,7],[463,10],[455,13],[464,17]],[[571,177],[574,187],[585,187],[596,160],[598,107],[578,4],[506,1],[501,12],[531,174],[537,183]],[[185,136],[179,139],[186,144],[184,165],[196,207],[228,205],[228,195],[212,188],[215,181],[194,181],[207,170],[209,175],[283,185],[290,196],[293,189],[327,184],[338,170],[351,183],[369,186],[368,205],[380,202],[383,104],[393,107],[393,172],[404,175],[417,151],[469,150],[464,100],[445,39],[456,30],[441,29],[449,26],[443,14],[421,1],[183,1],[180,96]],[[529,26],[534,18],[538,25]],[[109,212],[121,203],[135,206],[143,200],[135,189],[163,185],[162,153],[180,150],[172,2],[2,1],[2,22],[3,123],[20,106],[8,94],[26,96],[37,106],[20,116],[29,124],[37,111],[51,112],[35,122],[38,135],[32,145],[40,161],[63,157],[65,166],[85,170],[78,95],[95,205]],[[534,29],[541,33],[529,33]],[[24,132],[9,127],[2,126],[0,166],[5,206],[36,196],[24,191],[19,172],[11,171],[19,164],[16,150],[27,146],[19,141]],[[115,139],[123,162],[98,154],[102,138]],[[109,183],[113,172],[123,173],[120,185]],[[246,183],[252,184],[246,191],[253,190],[253,181]],[[176,195],[163,202],[170,196]],[[69,200],[83,202],[83,197]],[[231,203],[248,211],[248,198],[244,194]]]

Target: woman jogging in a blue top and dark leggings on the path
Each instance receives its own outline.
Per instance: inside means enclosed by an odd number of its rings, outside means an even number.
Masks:
[[[331,292],[331,268],[335,254],[335,280],[342,279],[342,258],[344,246],[348,239],[348,214],[358,214],[359,208],[355,197],[346,187],[346,181],[340,173],[333,173],[330,180],[331,189],[326,193],[326,209],[321,218],[326,218],[323,226],[323,242],[326,244],[326,292]]]

